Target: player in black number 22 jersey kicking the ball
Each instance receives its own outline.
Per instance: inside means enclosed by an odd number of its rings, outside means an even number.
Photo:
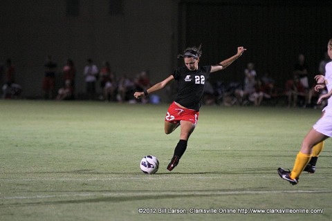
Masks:
[[[185,49],[183,57],[185,66],[176,68],[172,75],[163,81],[151,86],[143,92],[134,93],[136,99],[154,93],[165,88],[171,81],[178,81],[178,92],[174,102],[169,106],[165,117],[165,133],[172,133],[178,126],[181,126],[180,140],[175,147],[174,155],[167,166],[172,171],[178,164],[187,148],[187,142],[196,127],[199,119],[199,108],[201,108],[205,81],[210,73],[227,68],[233,61],[238,59],[246,48],[238,47],[237,54],[221,61],[214,66],[199,66],[199,59],[202,55],[201,46]]]

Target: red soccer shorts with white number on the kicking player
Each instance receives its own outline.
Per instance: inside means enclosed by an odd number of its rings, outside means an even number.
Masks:
[[[165,121],[172,124],[178,124],[181,120],[192,122],[192,124],[196,125],[199,120],[199,111],[181,108],[173,102],[167,110]]]

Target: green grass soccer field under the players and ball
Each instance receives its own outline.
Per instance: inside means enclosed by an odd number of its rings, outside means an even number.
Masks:
[[[0,220],[331,220],[331,140],[315,174],[296,186],[277,175],[320,110],[203,106],[169,172],[179,130],[163,132],[167,107],[1,100]],[[156,174],[140,171],[145,155],[158,157]]]

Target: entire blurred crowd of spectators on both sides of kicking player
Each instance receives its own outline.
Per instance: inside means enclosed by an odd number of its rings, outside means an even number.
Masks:
[[[223,104],[224,106],[261,106],[263,102],[291,107],[317,108],[316,100],[320,93],[313,90],[315,85],[310,85],[309,77],[325,74],[325,64],[329,62],[327,54],[318,64],[317,73],[309,73],[308,64],[303,54],[299,54],[290,75],[282,84],[277,84],[270,73],[257,74],[255,64],[249,62],[243,70],[243,81],[206,81],[203,102],[207,105]],[[0,75],[3,77],[2,95],[4,99],[21,98],[23,88],[15,79],[15,66],[11,59],[6,64],[0,63]],[[84,78],[85,92],[75,91],[75,79]],[[56,86],[56,80],[61,81],[61,86]],[[59,68],[51,56],[44,63],[44,77],[42,79],[42,97],[44,99],[89,99],[105,102],[140,102],[160,103],[160,97],[150,95],[140,100],[133,99],[135,91],[143,91],[151,86],[148,71],[140,71],[135,77],[127,75],[117,76],[108,61],[101,66],[86,59],[83,73],[77,75],[74,61],[67,59],[66,64]],[[99,87],[99,88],[98,88]],[[322,104],[324,106],[326,104]]]

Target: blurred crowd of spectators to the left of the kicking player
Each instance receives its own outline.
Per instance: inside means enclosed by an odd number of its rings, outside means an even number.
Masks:
[[[0,76],[3,77],[2,95],[4,99],[21,98],[22,88],[15,79],[15,66],[8,59],[6,65],[0,64]],[[84,79],[85,91],[76,91],[76,79]],[[57,84],[61,81],[60,86]],[[154,95],[154,99],[133,98],[136,90],[145,90],[151,86],[148,71],[140,71],[135,77],[127,75],[116,76],[108,61],[104,61],[99,67],[93,59],[86,60],[83,73],[77,75],[77,69],[72,59],[67,59],[66,64],[58,67],[51,56],[44,63],[44,76],[42,77],[43,99],[89,99],[105,102],[142,102],[159,103],[160,98]]]

